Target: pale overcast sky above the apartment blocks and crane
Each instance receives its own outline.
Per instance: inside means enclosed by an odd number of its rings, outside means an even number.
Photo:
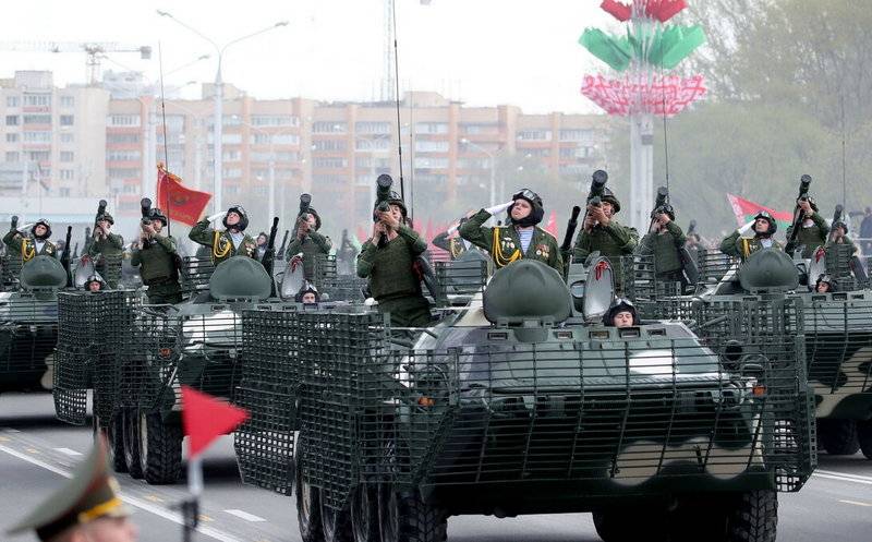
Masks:
[[[437,91],[474,106],[518,105],[525,112],[594,112],[581,96],[582,74],[600,64],[578,45],[586,26],[615,27],[598,0],[397,0],[400,93]],[[257,98],[378,97],[384,72],[385,0],[29,0],[3,2],[2,40],[116,41],[152,45],[150,61],[114,53],[110,60],[168,85],[215,79],[213,47],[155,10],[169,11],[219,44],[288,21],[289,25],[228,49],[225,81]],[[8,47],[4,45],[4,47]],[[104,70],[118,70],[111,61]],[[55,72],[59,85],[85,81],[84,53],[0,50],[0,76],[15,70]],[[195,98],[198,87],[183,96]]]

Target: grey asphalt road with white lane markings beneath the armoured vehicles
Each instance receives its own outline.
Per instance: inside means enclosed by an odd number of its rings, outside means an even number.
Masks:
[[[55,419],[50,395],[0,396],[0,540],[33,542],[32,534],[3,533],[69,475],[90,448],[90,427]],[[204,459],[206,491],[197,541],[299,541],[293,497],[243,485],[232,439],[218,442]],[[172,503],[184,486],[150,486],[119,475],[134,509],[143,542],[181,540]],[[524,516],[514,519],[465,516],[448,522],[452,542],[594,542],[590,514]],[[827,457],[799,493],[779,495],[778,540],[784,542],[872,541],[872,461],[863,456]]]

